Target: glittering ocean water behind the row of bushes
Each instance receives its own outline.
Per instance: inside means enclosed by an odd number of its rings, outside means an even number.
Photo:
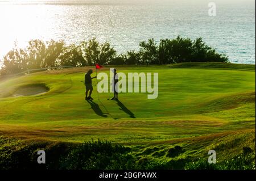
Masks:
[[[209,2],[216,16],[209,16]],[[203,40],[238,64],[255,64],[255,1],[19,1],[0,2],[0,59],[14,42],[80,43],[93,37],[119,52],[138,50],[139,42],[180,35]]]

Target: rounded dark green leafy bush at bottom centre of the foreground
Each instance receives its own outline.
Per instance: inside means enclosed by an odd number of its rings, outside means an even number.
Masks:
[[[129,148],[109,141],[92,141],[77,145],[61,161],[60,169],[131,169],[133,157]]]

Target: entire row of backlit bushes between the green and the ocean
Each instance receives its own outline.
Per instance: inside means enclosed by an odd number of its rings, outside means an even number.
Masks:
[[[228,62],[225,54],[217,53],[201,38],[194,41],[183,39],[154,39],[139,43],[139,51],[131,50],[117,54],[109,43],[100,44],[94,38],[79,45],[66,45],[63,40],[31,40],[24,49],[16,46],[4,57],[0,74],[15,74],[28,69],[51,68],[53,66],[100,65],[164,65],[179,62]]]

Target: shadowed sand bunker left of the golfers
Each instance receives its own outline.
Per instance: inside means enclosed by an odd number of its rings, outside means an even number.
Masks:
[[[20,87],[16,90],[13,96],[30,96],[30,95],[40,95],[49,91],[49,88],[44,85],[30,85],[26,87]]]

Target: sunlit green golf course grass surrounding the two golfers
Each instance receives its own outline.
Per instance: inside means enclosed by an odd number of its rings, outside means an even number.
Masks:
[[[255,150],[255,66],[189,66],[119,66],[125,73],[158,72],[158,99],[147,99],[144,93],[125,93],[119,95],[121,103],[117,103],[107,100],[109,94],[105,93],[94,101],[98,107],[84,100],[80,81],[85,68],[2,81],[0,133],[72,142],[100,138],[132,145],[139,156],[164,156],[177,144],[185,148],[181,157],[207,156],[210,148],[221,150],[221,158],[228,157],[229,150],[241,153],[244,146]],[[19,86],[38,83],[51,90],[39,96],[8,97]],[[96,91],[93,97],[97,98]]]

